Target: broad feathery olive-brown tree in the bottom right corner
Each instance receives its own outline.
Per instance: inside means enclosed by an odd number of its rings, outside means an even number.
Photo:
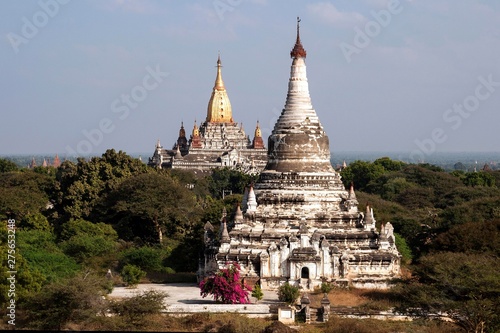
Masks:
[[[399,310],[419,316],[445,313],[467,332],[500,329],[498,257],[443,252],[422,257],[418,281],[399,289]]]

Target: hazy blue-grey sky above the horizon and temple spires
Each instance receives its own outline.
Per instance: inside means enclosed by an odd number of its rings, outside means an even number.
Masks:
[[[170,148],[206,117],[270,134],[296,17],[335,151],[500,151],[498,0],[2,1],[0,154]]]

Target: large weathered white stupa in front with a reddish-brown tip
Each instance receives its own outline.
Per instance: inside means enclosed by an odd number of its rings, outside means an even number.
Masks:
[[[234,221],[220,234],[205,225],[201,276],[238,262],[242,276],[263,288],[285,282],[312,290],[325,281],[385,288],[400,274],[393,227],[378,232],[373,210],[363,214],[330,163],[328,136],[314,110],[299,34],[285,107],[268,140],[268,161],[246,191]]]

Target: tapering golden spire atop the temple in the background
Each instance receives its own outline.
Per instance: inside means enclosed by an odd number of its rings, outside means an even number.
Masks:
[[[217,58],[217,77],[215,78],[212,96],[208,102],[207,122],[209,123],[233,123],[233,110],[227,96],[224,81],[222,81],[222,64],[220,54]]]

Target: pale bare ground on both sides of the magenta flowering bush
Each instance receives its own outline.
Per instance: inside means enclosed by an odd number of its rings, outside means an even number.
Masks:
[[[194,283],[169,283],[169,284],[139,284],[137,288],[115,287],[109,295],[114,298],[131,297],[140,294],[146,290],[163,291],[168,294],[165,304],[210,304],[212,298],[202,298],[200,289]],[[275,303],[278,301],[278,295],[275,291],[264,290],[264,298],[259,302],[261,304]],[[251,297],[251,301],[255,299]]]

